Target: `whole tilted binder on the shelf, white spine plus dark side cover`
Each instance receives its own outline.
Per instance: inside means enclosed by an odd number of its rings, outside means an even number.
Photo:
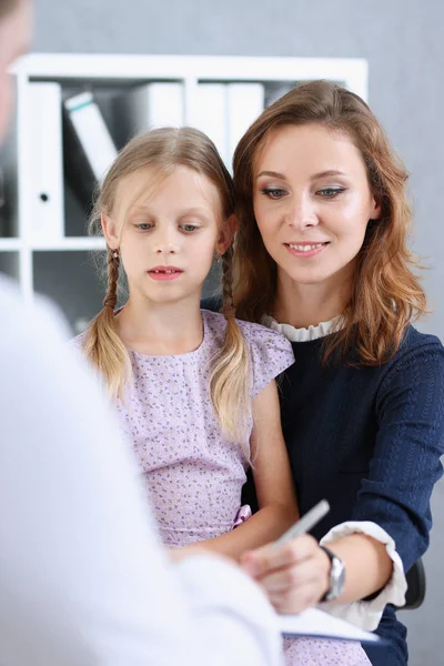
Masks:
[[[94,189],[103,182],[118,150],[92,92],[70,97],[63,107],[64,170],[88,212]]]

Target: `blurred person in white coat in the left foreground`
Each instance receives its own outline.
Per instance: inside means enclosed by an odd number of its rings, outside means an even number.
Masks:
[[[0,141],[29,0],[0,0]],[[0,280],[2,666],[279,666],[276,617],[234,565],[173,564],[101,389],[49,305]]]

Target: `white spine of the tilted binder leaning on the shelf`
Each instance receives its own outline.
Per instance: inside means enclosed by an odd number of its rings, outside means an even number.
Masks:
[[[118,151],[93,94],[77,94],[65,100],[64,107],[94,179],[101,183]]]

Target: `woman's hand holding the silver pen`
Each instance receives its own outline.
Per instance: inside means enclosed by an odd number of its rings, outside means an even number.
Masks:
[[[278,613],[301,613],[319,603],[330,585],[331,562],[315,538],[299,536],[241,557],[241,567],[265,591]]]

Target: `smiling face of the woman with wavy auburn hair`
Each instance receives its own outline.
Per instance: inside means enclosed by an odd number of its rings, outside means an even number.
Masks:
[[[349,280],[365,230],[381,210],[364,161],[343,133],[320,124],[279,128],[260,150],[253,205],[282,280]]]

